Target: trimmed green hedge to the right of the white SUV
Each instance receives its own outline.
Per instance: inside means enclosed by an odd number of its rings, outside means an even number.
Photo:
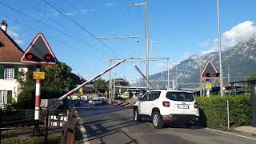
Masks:
[[[252,122],[250,95],[198,97],[200,126],[227,130],[226,101],[230,105],[230,126],[248,126]]]

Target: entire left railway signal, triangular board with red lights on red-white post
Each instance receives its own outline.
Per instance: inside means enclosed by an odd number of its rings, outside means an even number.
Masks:
[[[44,72],[40,72],[41,65],[55,65],[58,60],[50,48],[49,43],[42,33],[38,33],[30,45],[26,48],[21,58],[22,63],[37,65],[37,70],[33,74],[35,79],[35,107],[34,107],[34,131],[32,135],[41,135],[39,129],[40,115],[40,95],[41,95],[41,80],[45,78]]]

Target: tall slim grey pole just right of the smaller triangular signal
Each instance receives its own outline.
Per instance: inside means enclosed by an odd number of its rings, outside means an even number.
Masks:
[[[219,73],[220,73],[220,91],[221,96],[223,96],[223,73],[222,73],[222,42],[221,42],[221,32],[220,32],[220,16],[219,16],[219,0],[218,3],[218,61],[219,61]]]

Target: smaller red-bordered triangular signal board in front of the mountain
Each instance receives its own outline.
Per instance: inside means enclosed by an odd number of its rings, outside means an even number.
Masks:
[[[206,62],[206,66],[202,70],[202,73],[200,74],[200,78],[202,79],[219,79],[219,73],[217,69],[215,68],[213,62],[208,61]]]

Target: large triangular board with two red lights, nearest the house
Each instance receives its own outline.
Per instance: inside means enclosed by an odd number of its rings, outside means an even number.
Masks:
[[[49,43],[42,33],[38,33],[22,55],[22,63],[30,64],[50,64],[58,62]]]

